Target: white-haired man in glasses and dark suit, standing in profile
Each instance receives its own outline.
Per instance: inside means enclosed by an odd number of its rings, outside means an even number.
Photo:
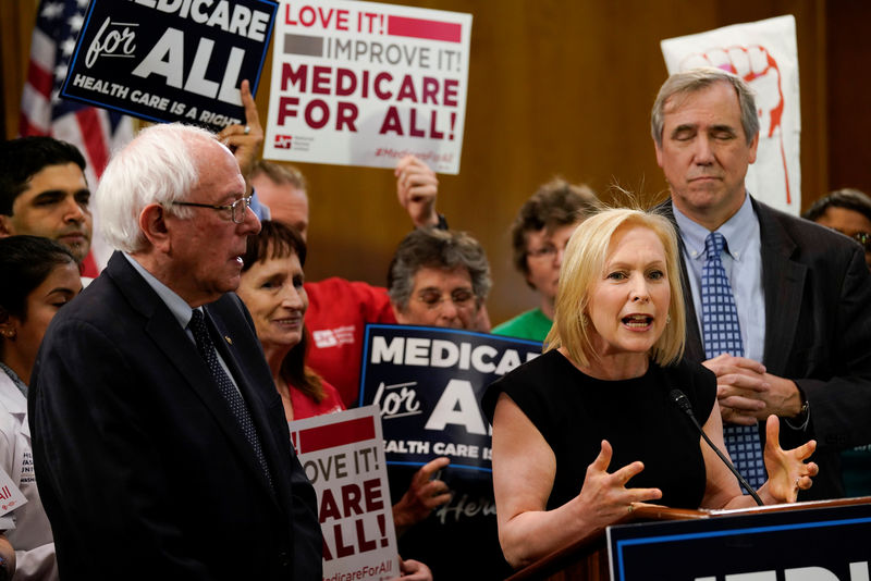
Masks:
[[[249,203],[193,127],[145,129],[103,174],[119,251],[52,321],[29,400],[63,579],[321,578],[315,492],[233,294]]]

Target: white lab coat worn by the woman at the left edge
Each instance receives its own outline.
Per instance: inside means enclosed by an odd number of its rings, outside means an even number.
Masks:
[[[54,541],[34,478],[27,399],[0,370],[0,468],[24,493],[27,504],[11,512],[15,529],[7,537],[15,549],[15,580],[57,580]]]

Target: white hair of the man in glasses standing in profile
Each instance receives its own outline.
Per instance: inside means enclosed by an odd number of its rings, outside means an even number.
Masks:
[[[203,143],[220,145],[213,134],[199,127],[152,125],[112,157],[95,194],[98,224],[109,245],[126,252],[147,246],[139,214],[148,205],[159,203],[180,218],[193,214],[172,202],[185,199],[199,183],[195,146]]]

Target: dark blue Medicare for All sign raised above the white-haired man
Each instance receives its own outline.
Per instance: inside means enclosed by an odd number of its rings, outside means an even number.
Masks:
[[[248,79],[257,91],[277,9],[272,0],[91,0],[61,96],[214,132],[244,124],[238,87]]]

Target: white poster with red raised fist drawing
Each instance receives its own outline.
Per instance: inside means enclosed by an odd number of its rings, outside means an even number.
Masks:
[[[801,211],[801,108],[796,21],[780,16],[661,42],[668,74],[715,66],[744,78],[756,94],[759,149],[747,189],[785,212]]]

